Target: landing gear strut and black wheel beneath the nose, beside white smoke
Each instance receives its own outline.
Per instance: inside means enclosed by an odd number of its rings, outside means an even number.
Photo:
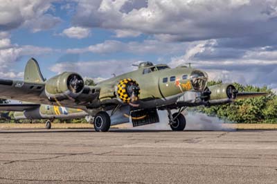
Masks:
[[[181,113],[184,111],[186,107],[179,109],[177,113],[171,113],[170,109],[168,109],[168,118],[169,118],[169,125],[172,131],[183,131],[186,127],[186,118]]]

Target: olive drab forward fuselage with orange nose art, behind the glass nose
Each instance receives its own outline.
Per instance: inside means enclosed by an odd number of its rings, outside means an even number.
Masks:
[[[132,79],[139,84],[141,100],[157,99],[170,97],[184,91],[193,90],[190,83],[190,74],[193,68],[180,66],[177,68],[163,68],[158,70],[157,67],[166,66],[159,64],[156,66],[141,67],[136,71],[118,75],[109,80],[100,82],[96,88],[100,88],[100,100],[108,100],[114,97],[114,88],[120,84],[120,81]],[[155,68],[154,71],[147,72],[150,68]],[[146,72],[145,72],[146,71]],[[109,93],[109,92],[110,93]]]

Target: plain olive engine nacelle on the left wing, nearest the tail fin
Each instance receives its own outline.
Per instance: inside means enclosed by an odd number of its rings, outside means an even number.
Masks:
[[[46,81],[45,93],[49,100],[77,98],[84,89],[84,80],[78,73],[64,72]]]

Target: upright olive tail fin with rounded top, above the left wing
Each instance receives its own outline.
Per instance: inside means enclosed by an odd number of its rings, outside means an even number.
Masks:
[[[25,66],[24,71],[25,82],[44,82],[42,72],[39,69],[39,64],[34,58],[30,58]]]

